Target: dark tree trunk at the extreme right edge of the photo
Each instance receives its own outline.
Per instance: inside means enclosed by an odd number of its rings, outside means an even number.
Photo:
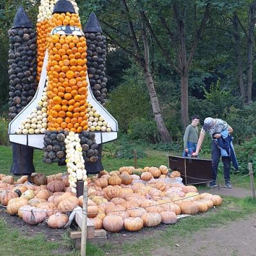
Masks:
[[[248,31],[248,53],[247,53],[247,102],[252,101],[252,68],[253,68],[253,29],[255,26],[256,3],[250,6],[249,31]]]

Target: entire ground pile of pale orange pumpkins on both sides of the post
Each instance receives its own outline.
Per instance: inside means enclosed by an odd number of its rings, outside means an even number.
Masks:
[[[173,184],[172,179],[151,179],[146,184],[133,182],[139,176],[132,174],[131,169],[138,172],[131,166],[123,166],[118,171],[102,171],[97,177],[88,178],[88,218],[95,229],[138,231],[160,223],[173,224],[179,214],[206,212],[222,203],[218,195],[199,195],[195,186]],[[148,167],[148,172],[141,175],[166,169],[166,166]],[[35,186],[26,184],[27,178],[14,182],[12,176],[0,175],[1,204],[26,223],[47,221],[49,227],[62,228],[68,222],[67,213],[77,205],[83,206],[83,196],[77,198],[70,191],[67,174],[47,177],[33,174]]]

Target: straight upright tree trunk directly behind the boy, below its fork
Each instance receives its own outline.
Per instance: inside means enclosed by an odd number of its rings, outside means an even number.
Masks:
[[[180,106],[183,128],[188,125],[188,73],[180,76]]]

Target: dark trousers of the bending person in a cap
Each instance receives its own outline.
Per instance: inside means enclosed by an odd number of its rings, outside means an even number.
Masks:
[[[218,165],[220,162],[220,148],[217,147],[214,141],[211,143],[212,149],[212,180],[216,181],[216,177],[218,174]],[[225,182],[229,182],[230,180],[230,157],[223,156],[221,157],[222,163],[224,166],[224,179]]]

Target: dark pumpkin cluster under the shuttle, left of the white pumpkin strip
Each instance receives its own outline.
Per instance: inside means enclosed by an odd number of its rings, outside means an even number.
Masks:
[[[58,163],[65,165],[66,147],[65,138],[68,131],[47,131],[44,136],[43,162],[47,164]]]

